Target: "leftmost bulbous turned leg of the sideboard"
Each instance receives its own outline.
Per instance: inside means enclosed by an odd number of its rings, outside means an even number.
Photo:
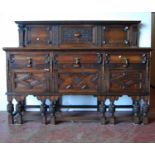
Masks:
[[[7,104],[7,111],[8,111],[8,124],[14,124],[14,105],[11,101]]]

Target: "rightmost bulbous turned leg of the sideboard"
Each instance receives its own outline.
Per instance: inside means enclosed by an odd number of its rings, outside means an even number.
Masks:
[[[145,101],[142,104],[142,122],[148,124],[149,104]]]

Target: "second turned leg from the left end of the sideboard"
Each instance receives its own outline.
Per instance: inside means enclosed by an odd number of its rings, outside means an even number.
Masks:
[[[17,113],[17,123],[18,124],[23,124],[23,114],[22,114],[22,102],[19,101],[16,104],[16,113]]]

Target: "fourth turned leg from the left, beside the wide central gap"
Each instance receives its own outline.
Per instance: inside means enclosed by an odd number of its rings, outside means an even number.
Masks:
[[[51,115],[51,124],[55,125],[56,124],[56,101],[54,100],[51,105],[49,106],[49,111]]]

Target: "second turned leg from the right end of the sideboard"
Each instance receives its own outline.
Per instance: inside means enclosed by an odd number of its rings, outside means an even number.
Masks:
[[[134,123],[140,124],[140,101],[134,100],[133,104]]]

